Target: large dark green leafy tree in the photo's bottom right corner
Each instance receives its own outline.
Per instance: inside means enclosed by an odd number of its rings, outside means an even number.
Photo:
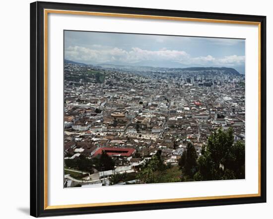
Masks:
[[[234,143],[232,128],[213,132],[201,153],[195,180],[245,178],[245,144],[241,141]]]

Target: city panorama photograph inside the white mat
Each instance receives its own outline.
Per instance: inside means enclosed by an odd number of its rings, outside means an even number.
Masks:
[[[245,43],[64,30],[64,188],[245,180]]]

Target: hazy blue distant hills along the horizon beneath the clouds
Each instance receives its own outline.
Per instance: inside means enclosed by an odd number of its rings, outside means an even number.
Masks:
[[[132,66],[132,65],[115,65],[115,64],[85,64],[80,62],[75,62],[65,59],[65,63],[79,64],[85,66],[101,67],[115,70],[128,70],[128,71],[172,71],[172,72],[183,72],[183,71],[192,71],[192,72],[211,72],[211,71],[221,71],[223,74],[232,74],[240,75],[240,73],[234,68],[229,67],[187,67],[187,68],[167,68],[167,67],[151,67],[151,66]]]

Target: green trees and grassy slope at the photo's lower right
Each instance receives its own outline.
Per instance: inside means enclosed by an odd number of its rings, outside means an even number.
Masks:
[[[198,158],[192,143],[179,160],[180,168],[168,168],[161,159],[161,151],[141,167],[138,183],[204,181],[245,178],[245,144],[234,142],[233,129],[221,128],[213,132]]]

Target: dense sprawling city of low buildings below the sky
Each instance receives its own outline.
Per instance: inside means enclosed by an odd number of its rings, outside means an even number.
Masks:
[[[245,76],[235,69],[65,60],[64,71],[65,187],[244,178]],[[205,177],[205,154],[222,139],[241,157],[223,155],[222,177]]]

